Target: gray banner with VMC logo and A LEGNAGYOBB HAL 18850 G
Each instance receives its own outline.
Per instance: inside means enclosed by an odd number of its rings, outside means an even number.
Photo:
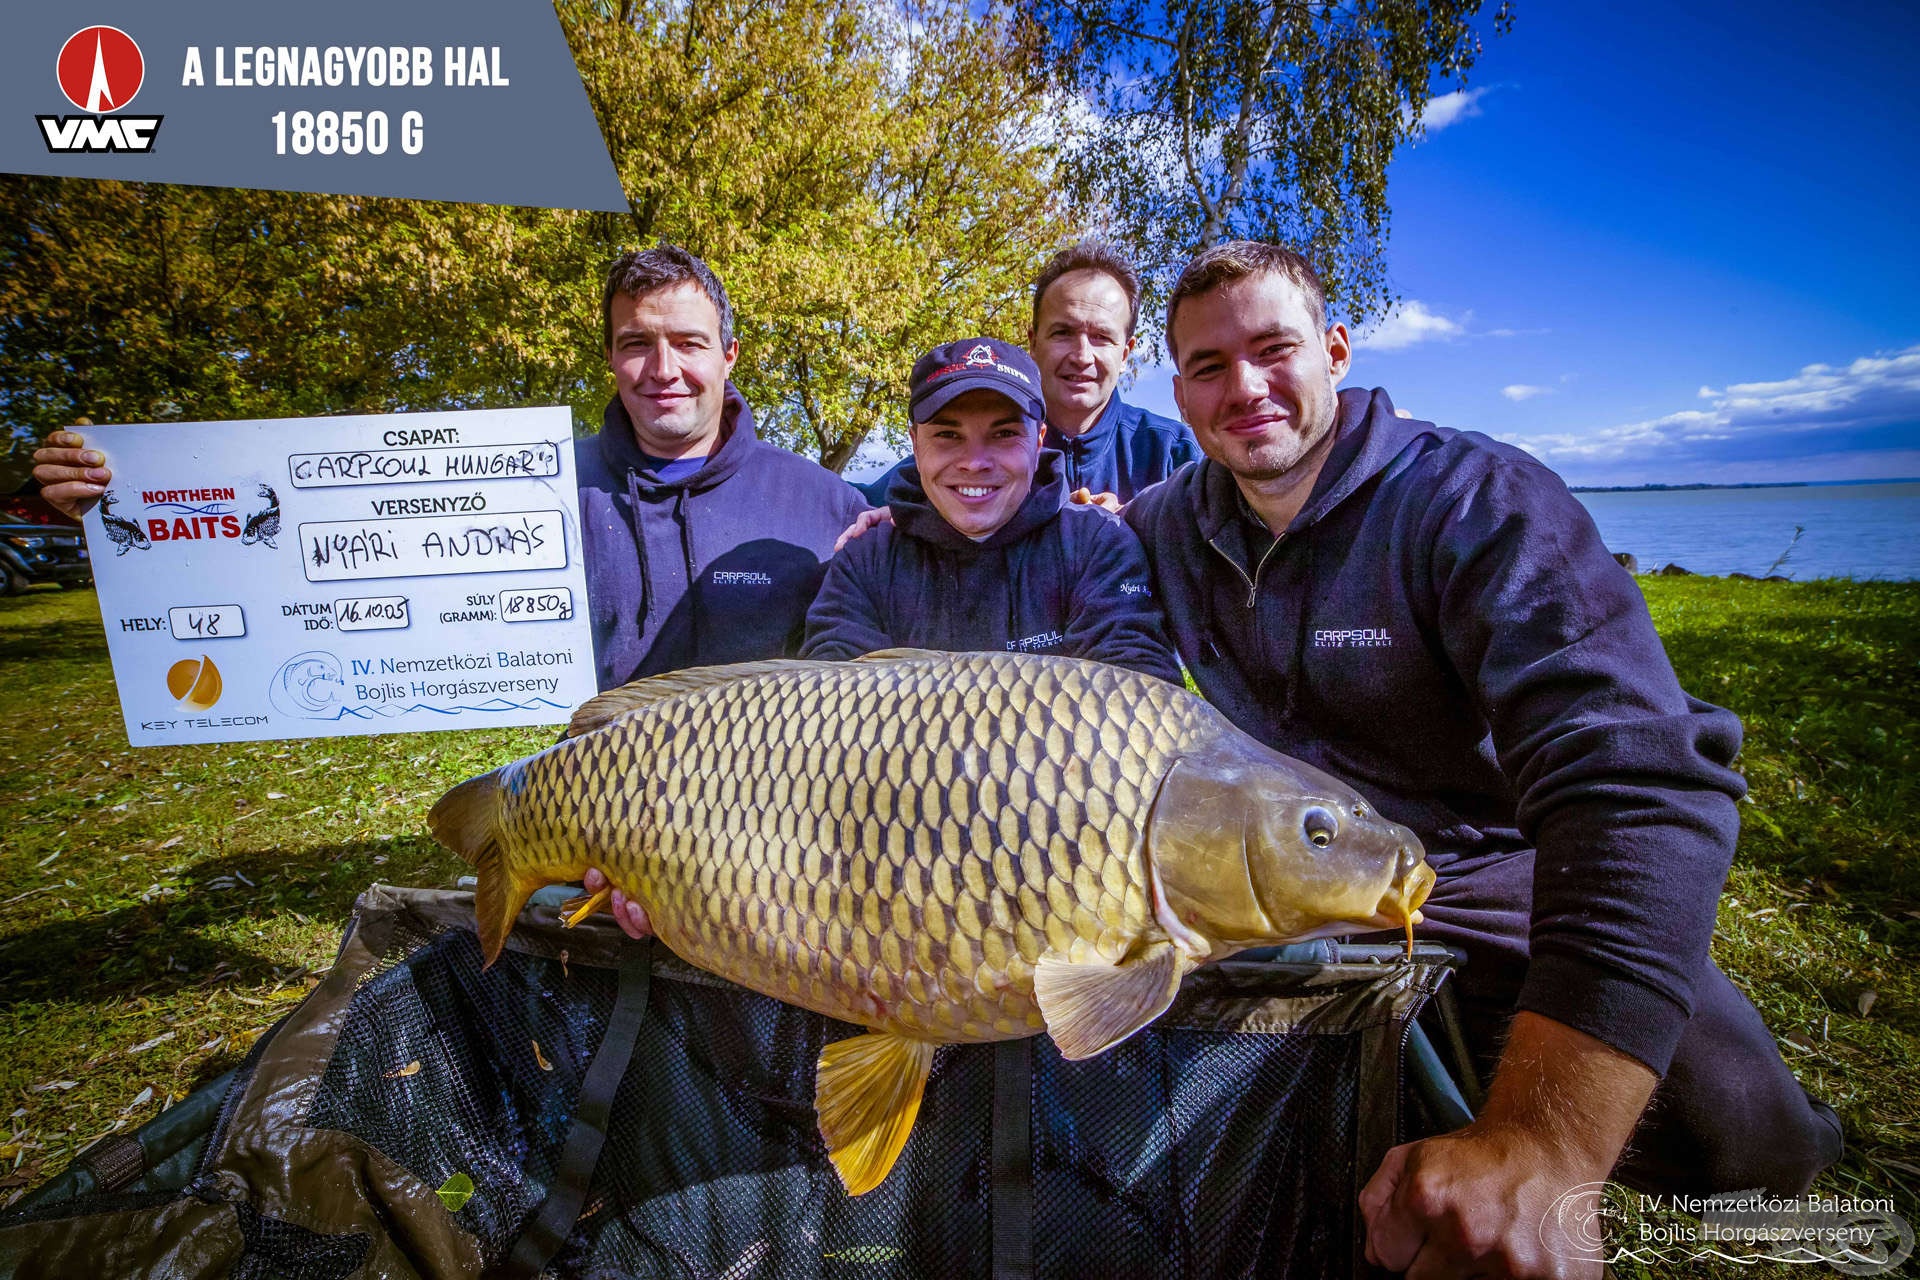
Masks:
[[[10,6],[0,171],[626,209],[543,0]]]

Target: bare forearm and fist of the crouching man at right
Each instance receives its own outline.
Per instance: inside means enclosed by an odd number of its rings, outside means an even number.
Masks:
[[[1361,1190],[1367,1261],[1409,1280],[1599,1280],[1601,1263],[1542,1222],[1567,1192],[1605,1182],[1653,1084],[1599,1040],[1517,1013],[1480,1117],[1394,1148]]]

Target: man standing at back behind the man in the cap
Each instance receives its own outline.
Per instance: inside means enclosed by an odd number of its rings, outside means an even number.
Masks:
[[[1033,282],[1027,347],[1046,401],[1043,449],[1058,449],[1069,495],[1108,510],[1200,459],[1192,432],[1119,399],[1119,374],[1140,320],[1140,276],[1110,244],[1083,240],[1054,253]],[[866,486],[887,501],[893,470]]]

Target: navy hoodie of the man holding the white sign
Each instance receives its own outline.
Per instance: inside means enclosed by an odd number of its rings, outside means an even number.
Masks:
[[[866,510],[851,484],[755,436],[732,384],[720,430],[676,482],[651,470],[618,397],[574,441],[601,689],[791,654],[833,539]]]

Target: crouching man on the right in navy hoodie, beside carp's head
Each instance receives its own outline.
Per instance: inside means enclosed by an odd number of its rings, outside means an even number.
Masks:
[[[1188,263],[1167,347],[1208,461],[1127,522],[1175,645],[1235,723],[1421,835],[1425,933],[1469,956],[1480,1048],[1505,1038],[1473,1125],[1367,1184],[1369,1259],[1597,1278],[1542,1224],[1617,1163],[1649,1190],[1805,1190],[1837,1121],[1707,956],[1740,722],[1680,689],[1580,503],[1517,449],[1336,391],[1346,328],[1286,249]]]

